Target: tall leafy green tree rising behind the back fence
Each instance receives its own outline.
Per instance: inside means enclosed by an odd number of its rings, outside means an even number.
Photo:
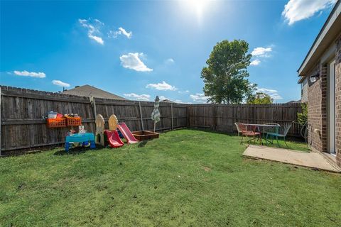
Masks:
[[[205,96],[208,101],[217,104],[240,104],[254,92],[256,84],[251,84],[247,77],[247,67],[251,55],[249,44],[244,40],[222,40],[213,48],[207,66],[202,68]]]

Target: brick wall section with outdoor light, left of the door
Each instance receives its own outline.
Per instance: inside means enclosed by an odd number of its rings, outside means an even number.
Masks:
[[[327,66],[318,62],[308,75],[319,73],[317,82],[308,87],[308,143],[315,150],[327,152]]]

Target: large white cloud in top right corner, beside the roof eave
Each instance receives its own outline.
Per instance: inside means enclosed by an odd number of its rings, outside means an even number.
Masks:
[[[324,9],[328,9],[337,0],[289,0],[284,6],[282,16],[286,18],[288,25],[297,21],[310,18]]]

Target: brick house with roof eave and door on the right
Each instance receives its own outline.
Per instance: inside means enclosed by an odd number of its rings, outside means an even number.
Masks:
[[[298,69],[308,104],[308,143],[341,166],[341,0]]]

